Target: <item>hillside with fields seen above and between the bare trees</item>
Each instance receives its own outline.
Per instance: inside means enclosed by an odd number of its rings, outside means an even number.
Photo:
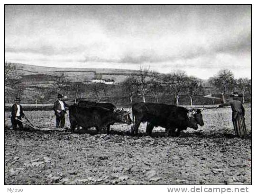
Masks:
[[[44,67],[44,66],[36,66],[36,65],[27,65],[21,63],[11,63],[11,65],[16,66],[16,69],[22,74],[21,76],[21,89],[23,89],[23,102],[27,103],[35,103],[38,98],[38,94],[42,99],[39,99],[38,103],[49,103],[55,100],[56,93],[51,92],[51,88],[54,88],[54,79],[55,75],[59,73],[65,73],[68,79],[71,82],[79,82],[77,85],[70,84],[73,86],[72,88],[68,88],[69,97],[72,99],[74,97],[78,97],[79,95],[82,97],[87,97],[88,100],[96,101],[96,97],[98,97],[95,93],[104,92],[104,96],[101,97],[102,101],[114,102],[115,104],[120,105],[128,105],[129,104],[129,94],[126,87],[124,87],[121,83],[125,79],[128,78],[131,74],[139,74],[139,71],[136,70],[122,70],[122,69],[96,69],[96,68],[56,68],[56,67]],[[160,77],[164,77],[165,74],[160,74]],[[150,75],[147,76],[146,79],[149,79]],[[114,85],[106,85],[106,90],[95,89],[95,84],[81,83],[88,82],[91,79],[111,79],[114,80]],[[205,79],[198,79],[201,81],[202,91],[198,93],[198,97],[195,97],[194,104],[209,104],[213,103],[210,99],[203,98],[203,95],[208,94],[218,94],[219,90],[214,86],[210,85]],[[161,80],[160,81],[163,89],[168,83]],[[79,88],[80,86],[80,88]],[[151,85],[148,84],[150,89]],[[79,88],[79,94],[75,90]],[[82,88],[82,89],[81,89]],[[86,88],[86,89],[85,89]],[[17,91],[19,88],[16,88]],[[140,89],[140,88],[139,88]],[[138,90],[139,90],[138,89]],[[100,90],[100,91],[99,91]],[[50,91],[50,92],[49,92]],[[149,91],[149,90],[148,90]],[[160,90],[161,91],[161,90]],[[160,94],[161,93],[161,94]],[[165,94],[165,92],[160,92],[159,102],[164,103],[173,103],[174,94],[171,92],[169,94]],[[6,102],[10,103],[12,99],[16,97],[16,93],[12,94],[12,96],[5,93]],[[136,96],[137,95],[137,96]],[[136,97],[139,101],[141,101],[140,91],[137,91],[137,94],[134,96],[134,102],[136,102]],[[95,97],[96,96],[96,97]],[[161,97],[162,96],[162,97]],[[180,95],[180,103],[185,105],[190,103],[190,98],[186,94]],[[152,92],[148,93],[147,96],[148,102],[155,102],[155,94]],[[25,100],[25,101],[24,101]],[[41,101],[40,101],[41,100]],[[251,98],[247,95],[246,102],[251,102]],[[216,103],[216,102],[214,102]]]

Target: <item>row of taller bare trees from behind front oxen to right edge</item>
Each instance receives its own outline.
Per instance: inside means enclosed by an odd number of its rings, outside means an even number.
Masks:
[[[167,74],[160,74],[148,69],[140,69],[138,75],[130,75],[124,82],[130,101],[135,95],[140,95],[144,102],[145,96],[151,94],[155,96],[155,101],[159,102],[159,96],[163,94],[172,94],[174,104],[179,105],[181,95],[190,98],[190,105],[193,105],[193,99],[196,95],[207,94],[205,85],[210,86],[215,94],[221,94],[221,100],[225,103],[228,94],[233,91],[240,92],[245,97],[251,94],[251,79],[235,79],[232,71],[223,69],[216,75],[210,77],[206,83],[194,76],[188,76],[185,71],[173,71]]]

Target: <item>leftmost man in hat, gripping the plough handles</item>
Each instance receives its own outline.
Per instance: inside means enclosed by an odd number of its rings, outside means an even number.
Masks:
[[[11,124],[13,130],[17,130],[17,124],[19,126],[19,129],[23,128],[23,124],[19,121],[21,120],[21,117],[24,117],[23,108],[19,104],[20,98],[16,97],[14,100],[16,103],[11,107]]]

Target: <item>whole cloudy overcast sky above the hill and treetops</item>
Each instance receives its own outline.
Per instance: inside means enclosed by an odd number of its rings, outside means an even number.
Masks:
[[[8,5],[5,60],[251,78],[251,6]]]

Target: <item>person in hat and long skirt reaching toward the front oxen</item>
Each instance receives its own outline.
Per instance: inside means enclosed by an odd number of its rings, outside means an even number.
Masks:
[[[223,106],[231,106],[232,109],[232,122],[234,125],[235,133],[238,137],[244,137],[246,132],[246,125],[245,125],[245,109],[239,100],[240,95],[238,95],[238,92],[234,92],[233,95],[230,97],[233,97],[233,100],[230,100],[228,103],[220,104],[219,107]]]

